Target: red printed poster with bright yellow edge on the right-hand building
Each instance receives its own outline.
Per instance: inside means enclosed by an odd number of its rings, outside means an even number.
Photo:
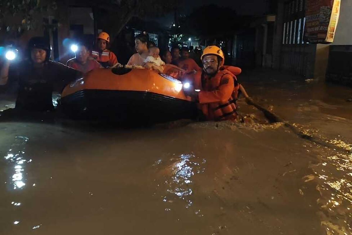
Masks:
[[[306,0],[305,39],[309,43],[332,43],[339,20],[341,0]]]

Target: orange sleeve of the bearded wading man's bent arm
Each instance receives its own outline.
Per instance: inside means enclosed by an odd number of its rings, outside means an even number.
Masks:
[[[207,104],[230,99],[234,87],[231,75],[225,74],[220,80],[220,86],[214,91],[200,91],[198,94],[199,103]]]

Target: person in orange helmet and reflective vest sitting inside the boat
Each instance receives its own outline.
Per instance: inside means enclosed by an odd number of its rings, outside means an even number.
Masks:
[[[101,32],[96,41],[97,50],[92,50],[92,57],[98,61],[104,68],[113,67],[118,63],[114,52],[106,49],[110,42],[110,36],[106,32]]]

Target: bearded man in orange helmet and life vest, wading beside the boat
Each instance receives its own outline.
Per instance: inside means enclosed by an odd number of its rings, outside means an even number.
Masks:
[[[199,108],[207,120],[234,120],[237,117],[239,85],[235,75],[224,69],[224,59],[220,48],[205,48],[201,56],[203,69],[194,76],[194,88],[200,91],[185,91],[199,101]]]

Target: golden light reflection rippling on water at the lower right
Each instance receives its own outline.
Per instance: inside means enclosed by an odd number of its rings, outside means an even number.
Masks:
[[[342,141],[329,141],[348,150],[351,144]],[[321,212],[321,224],[326,234],[352,234],[352,154],[333,153],[318,166],[313,166]]]

